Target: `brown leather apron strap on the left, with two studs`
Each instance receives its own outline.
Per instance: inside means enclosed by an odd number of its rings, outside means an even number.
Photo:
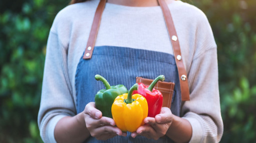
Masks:
[[[98,34],[98,30],[99,30],[101,15],[103,13],[103,9],[105,7],[106,1],[107,0],[100,0],[99,5],[96,9],[94,19],[92,22],[92,26],[91,26],[91,32],[90,32],[88,42],[86,45],[86,49],[85,49],[85,52],[83,55],[83,59],[91,59],[95,41],[96,41],[97,34]]]

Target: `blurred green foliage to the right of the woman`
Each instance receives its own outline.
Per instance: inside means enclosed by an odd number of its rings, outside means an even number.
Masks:
[[[218,45],[222,143],[256,143],[256,0],[188,0]]]

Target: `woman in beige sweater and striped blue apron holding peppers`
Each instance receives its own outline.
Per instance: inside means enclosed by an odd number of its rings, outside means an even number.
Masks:
[[[219,142],[223,122],[217,46],[205,14],[182,1],[165,0],[177,31],[177,37],[170,40],[158,0],[108,0],[95,47],[89,48],[86,44],[99,2],[72,0],[53,22],[38,114],[43,141]],[[181,97],[182,81],[172,46],[177,39],[181,51],[177,59],[182,59],[188,77],[184,77],[189,84],[188,101]],[[154,79],[163,74],[165,81],[175,83],[171,110],[163,107],[155,118],[144,120],[148,125],[134,133],[122,133],[113,119],[102,117],[95,108],[94,96],[104,88],[94,79],[95,74],[107,78],[110,85],[124,84],[127,88],[137,76]]]

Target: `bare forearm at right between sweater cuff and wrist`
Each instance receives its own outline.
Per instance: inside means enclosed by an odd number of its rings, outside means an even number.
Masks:
[[[192,127],[188,120],[173,115],[173,121],[166,135],[175,143],[188,143],[192,137]]]

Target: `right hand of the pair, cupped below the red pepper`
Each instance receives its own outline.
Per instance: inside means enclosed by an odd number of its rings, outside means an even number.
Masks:
[[[156,115],[155,118],[145,118],[144,123],[148,125],[139,127],[131,136],[135,138],[137,135],[141,135],[148,139],[158,140],[166,134],[172,124],[172,120],[173,114],[170,108],[162,107],[160,114]]]

